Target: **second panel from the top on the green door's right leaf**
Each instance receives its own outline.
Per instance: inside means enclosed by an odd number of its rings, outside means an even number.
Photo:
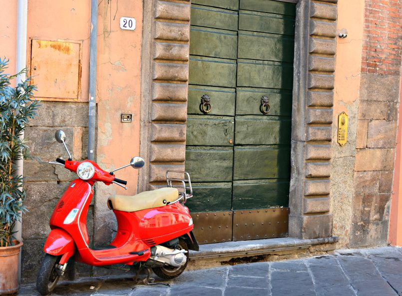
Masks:
[[[239,11],[239,30],[274,34],[295,34],[295,19],[280,14]]]

